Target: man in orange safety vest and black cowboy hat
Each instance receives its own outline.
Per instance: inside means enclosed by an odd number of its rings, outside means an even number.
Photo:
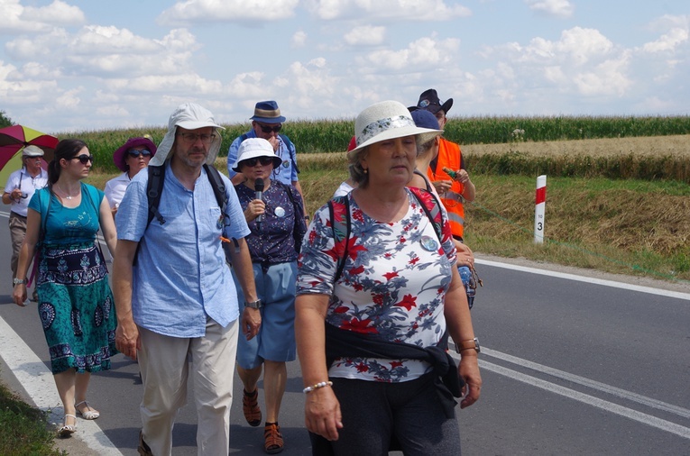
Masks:
[[[425,109],[434,114],[438,121],[438,127],[443,130],[446,126],[446,114],[453,105],[453,98],[448,98],[441,103],[435,89],[429,88],[419,96],[416,106],[410,106],[409,111]],[[455,172],[455,178],[451,178],[444,169]],[[446,207],[450,227],[456,241],[463,241],[463,225],[465,224],[465,208],[463,201],[474,201],[474,184],[465,170],[465,160],[460,151],[460,145],[441,138],[438,155],[427,170],[427,176],[436,187],[441,201]]]

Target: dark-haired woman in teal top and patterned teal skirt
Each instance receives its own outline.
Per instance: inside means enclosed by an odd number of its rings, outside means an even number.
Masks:
[[[75,432],[77,415],[86,420],[100,415],[87,402],[89,379],[91,372],[110,369],[110,357],[117,352],[113,293],[96,233],[103,231],[111,253],[117,237],[103,192],[81,182],[92,164],[83,141],[58,143],[48,166],[48,187],[29,202],[14,279],[14,303],[24,306],[27,272],[37,253],[38,311],[65,412],[60,436]]]

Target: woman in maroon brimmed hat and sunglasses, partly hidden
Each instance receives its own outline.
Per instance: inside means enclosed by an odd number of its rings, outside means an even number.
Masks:
[[[122,202],[124,190],[136,173],[149,166],[156,154],[156,145],[148,138],[130,138],[113,154],[115,166],[123,173],[106,182],[106,198],[115,217],[117,207]]]

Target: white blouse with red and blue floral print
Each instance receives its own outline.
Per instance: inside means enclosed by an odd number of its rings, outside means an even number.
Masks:
[[[389,342],[429,347],[446,331],[444,299],[455,265],[455,246],[446,213],[443,242],[433,224],[406,188],[409,210],[396,223],[381,223],[364,214],[349,198],[351,233],[345,268],[336,283],[338,252],[328,206],[309,225],[299,256],[298,295],[330,295],[327,324],[357,333],[375,334]],[[419,190],[424,198],[431,197]],[[334,212],[345,205],[334,200]],[[342,243],[341,242],[341,243]],[[340,358],[328,375],[370,381],[398,382],[419,378],[430,369],[420,360]]]

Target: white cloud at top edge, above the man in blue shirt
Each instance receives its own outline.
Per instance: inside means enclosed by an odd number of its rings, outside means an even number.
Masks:
[[[164,10],[158,23],[262,23],[281,21],[295,15],[299,0],[186,0]]]

